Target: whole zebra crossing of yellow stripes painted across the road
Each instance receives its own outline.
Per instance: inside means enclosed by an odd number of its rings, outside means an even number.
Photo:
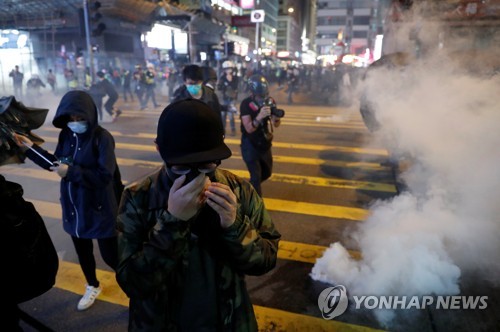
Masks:
[[[300,142],[290,140],[293,138],[297,128],[308,128],[312,132],[343,130],[348,132],[366,133],[366,129],[359,118],[351,114],[348,121],[338,123],[328,121],[335,112],[341,112],[345,115],[345,110],[331,109],[312,109],[304,112],[306,107],[296,107],[287,110],[287,116],[283,120],[280,131],[286,131],[286,135],[275,135],[273,143],[274,174],[267,181],[269,186],[292,186],[295,189],[308,188],[309,191],[321,190],[342,190],[342,191],[361,191],[366,193],[394,195],[396,192],[394,183],[388,178],[384,181],[370,181],[369,179],[349,179],[322,175],[318,168],[332,168],[342,171],[361,172],[362,174],[390,173],[387,166],[381,165],[381,161],[387,158],[387,151],[377,147],[362,147],[355,144],[335,145],[335,144],[313,144],[314,142]],[[112,133],[116,141],[117,161],[121,169],[127,170],[125,174],[146,174],[161,166],[161,159],[156,155],[153,145],[155,134],[155,119],[159,116],[155,111],[129,111],[124,109],[120,121],[133,122],[141,119],[143,126],[139,130],[131,130],[131,126],[120,128],[120,122],[106,126]],[[318,119],[322,119],[319,121]],[[53,151],[57,142],[59,130],[46,125],[36,131],[42,136],[46,143],[44,147]],[[249,174],[239,152],[239,139],[226,138],[226,143],[233,151],[233,156],[227,163],[223,163],[223,168],[235,173],[236,175],[248,178]],[[346,154],[349,159],[331,159],[324,158],[322,154]],[[227,167],[224,167],[226,166]],[[282,167],[283,166],[283,167]],[[295,168],[316,169],[312,174],[294,173]],[[292,170],[292,171],[290,171]],[[21,183],[25,188],[25,198],[32,201],[44,219],[60,220],[61,208],[58,195],[32,195],[31,186],[58,187],[59,177],[56,174],[47,172],[38,168],[36,165],[27,161],[23,165],[9,165],[2,167],[2,174],[10,181]],[[369,178],[369,177],[366,177]],[[125,182],[132,182],[137,176],[124,177]],[[308,192],[309,192],[308,191]],[[52,192],[56,192],[52,190]],[[298,195],[298,194],[297,194]],[[296,216],[306,218],[311,224],[315,218],[324,218],[332,223],[337,220],[344,222],[359,223],[363,222],[369,215],[369,211],[364,206],[346,206],[343,204],[325,204],[316,202],[314,197],[308,195],[304,199],[291,199],[286,194],[282,196],[267,197],[264,193],[264,202],[271,215],[286,214],[288,218],[294,219]],[[300,195],[298,195],[300,196]],[[278,228],[279,230],[279,228]],[[326,245],[315,243],[304,243],[292,241],[283,238],[280,242],[278,258],[299,262],[301,264],[314,264],[317,258],[327,249]],[[360,258],[361,253],[355,249],[350,251],[351,256]],[[311,265],[312,267],[312,265]],[[108,301],[119,305],[128,305],[126,296],[116,285],[113,273],[105,270],[99,270],[99,278],[103,280],[106,290],[99,298],[102,301]],[[58,273],[56,287],[71,292],[81,292],[75,288],[75,280],[78,285],[84,283],[83,276],[77,264],[69,261],[62,261]],[[334,330],[352,330],[352,331],[373,331],[372,328],[342,323],[338,321],[326,321],[318,317],[304,315],[301,313],[292,313],[279,309],[255,306],[255,311],[259,320],[259,326],[271,326],[278,324],[285,328],[293,326],[297,331],[334,331]],[[319,311],[318,311],[319,313]],[[281,322],[281,323],[280,323]],[[272,323],[272,324],[271,324]],[[269,325],[271,324],[271,325]],[[281,324],[281,325],[280,325]],[[292,324],[292,325],[290,325]],[[265,328],[263,328],[265,330]],[[280,330],[280,329],[277,329]],[[282,329],[283,330],[283,329]],[[284,330],[287,330],[286,328]]]

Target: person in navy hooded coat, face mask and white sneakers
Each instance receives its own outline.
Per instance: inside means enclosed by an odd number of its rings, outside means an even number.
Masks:
[[[96,275],[93,240],[97,240],[110,268],[115,270],[118,264],[115,142],[98,125],[96,105],[84,91],[69,91],[62,97],[52,124],[61,129],[54,154],[26,136],[16,135],[17,145],[33,162],[61,177],[62,224],[73,240],[87,281],[77,309],[86,310],[102,290]]]

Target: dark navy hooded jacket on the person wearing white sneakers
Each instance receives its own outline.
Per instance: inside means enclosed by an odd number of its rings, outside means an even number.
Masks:
[[[67,123],[70,114],[78,114],[89,123],[83,134],[75,134]],[[53,125],[61,128],[55,156],[51,160],[68,163],[68,173],[61,179],[61,206],[64,230],[79,238],[100,239],[116,235],[118,203],[113,189],[115,171],[115,142],[113,136],[97,123],[97,109],[84,91],[70,91],[64,95]],[[38,151],[42,149],[37,147]],[[30,151],[30,150],[28,150]],[[33,156],[30,159],[45,168]]]

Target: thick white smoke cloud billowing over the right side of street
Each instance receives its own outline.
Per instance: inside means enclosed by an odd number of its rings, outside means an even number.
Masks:
[[[443,59],[365,81],[378,138],[413,158],[408,192],[371,207],[353,234],[361,260],[334,243],[313,279],[351,295],[454,295],[464,272],[500,272],[500,75],[467,75]]]

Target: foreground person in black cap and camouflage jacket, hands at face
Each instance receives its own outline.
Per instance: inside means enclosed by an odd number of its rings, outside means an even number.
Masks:
[[[129,330],[257,331],[245,275],[274,268],[281,235],[251,184],[217,168],[231,155],[220,119],[172,103],[156,144],[164,166],[125,190],[118,216]]]

